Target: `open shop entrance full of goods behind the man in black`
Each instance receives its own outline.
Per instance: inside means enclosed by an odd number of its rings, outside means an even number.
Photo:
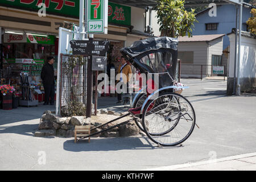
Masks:
[[[5,31],[2,35],[3,79],[13,85],[15,94],[22,96],[20,73],[27,73],[35,99],[43,101],[44,88],[40,78],[41,70],[48,56],[57,57],[57,38],[53,35],[23,34],[18,30]],[[57,64],[55,76],[57,76]],[[2,83],[1,83],[2,84]]]

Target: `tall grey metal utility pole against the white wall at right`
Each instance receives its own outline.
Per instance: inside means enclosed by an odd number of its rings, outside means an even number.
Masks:
[[[239,13],[239,40],[238,40],[238,59],[237,59],[237,92],[236,95],[240,96],[241,88],[240,88],[240,61],[241,61],[241,31],[242,31],[242,4],[240,5],[240,13]]]

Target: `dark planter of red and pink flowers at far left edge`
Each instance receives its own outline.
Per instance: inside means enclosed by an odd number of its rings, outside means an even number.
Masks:
[[[1,85],[0,91],[2,93],[2,109],[13,109],[13,92],[15,91],[14,87],[11,85]]]

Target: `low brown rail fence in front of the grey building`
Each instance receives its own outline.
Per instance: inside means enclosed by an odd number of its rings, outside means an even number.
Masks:
[[[203,79],[209,76],[227,76],[227,65],[178,64],[179,77],[196,77]]]

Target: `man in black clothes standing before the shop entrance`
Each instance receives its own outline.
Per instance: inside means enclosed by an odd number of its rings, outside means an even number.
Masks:
[[[44,105],[54,104],[55,96],[55,80],[54,80],[54,58],[52,56],[47,57],[47,63],[43,66],[41,72],[41,78],[44,85]],[[50,99],[50,100],[49,100]]]

